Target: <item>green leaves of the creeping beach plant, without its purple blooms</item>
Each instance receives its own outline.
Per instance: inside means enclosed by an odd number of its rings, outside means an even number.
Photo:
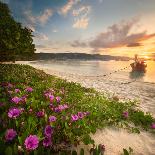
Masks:
[[[13,87],[6,87],[8,83],[13,84]],[[6,84],[6,86],[2,84]],[[25,91],[28,86],[33,88],[32,93]],[[15,93],[15,88],[20,89],[20,92]],[[54,96],[60,96],[62,99],[61,104],[67,103],[69,109],[60,113],[54,112],[49,107],[50,101],[43,95],[45,90],[53,90]],[[16,105],[10,102],[12,97],[21,97],[23,95],[27,95],[24,104]],[[21,150],[26,152],[24,141],[29,134],[37,135],[40,140],[38,149],[33,153],[51,154],[53,151],[63,150],[63,147],[68,148],[70,144],[78,145],[80,142],[86,145],[94,144],[90,134],[94,134],[97,129],[106,126],[125,126],[126,129],[138,132],[140,129],[149,130],[150,125],[154,122],[154,118],[150,114],[134,110],[135,102],[128,101],[124,103],[108,99],[93,89],[87,89],[79,84],[47,75],[43,71],[36,70],[28,65],[0,64],[0,102],[4,103],[4,106],[0,107],[0,118],[5,120],[0,130],[0,153],[2,154],[5,154],[6,151],[12,151],[12,154],[16,154],[17,146],[21,146]],[[53,102],[53,105],[57,106],[56,101]],[[24,108],[21,117],[15,120],[11,120],[7,116],[8,109],[12,106]],[[33,109],[32,113],[30,113],[30,109]],[[45,116],[37,118],[36,113],[42,109],[45,111]],[[126,118],[122,115],[124,111],[129,113]],[[78,112],[89,112],[89,115],[72,122],[71,115]],[[44,148],[42,146],[43,131],[49,123],[49,115],[57,117],[57,121],[50,124],[55,131],[52,135],[54,148]],[[132,126],[130,126],[131,124]],[[17,137],[11,143],[4,140],[8,128],[17,131]],[[64,141],[65,146],[62,147]],[[99,153],[100,148],[104,149],[103,147],[96,147],[93,152]],[[83,151],[81,151],[81,154],[83,154]]]

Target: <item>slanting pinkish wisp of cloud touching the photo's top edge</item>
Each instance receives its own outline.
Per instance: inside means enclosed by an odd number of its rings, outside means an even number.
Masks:
[[[78,2],[80,2],[80,0],[68,0],[68,2],[60,9],[60,13],[63,15],[67,15],[72,7]]]

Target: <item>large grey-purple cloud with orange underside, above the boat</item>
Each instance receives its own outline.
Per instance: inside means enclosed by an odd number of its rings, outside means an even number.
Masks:
[[[113,24],[108,27],[107,31],[98,34],[89,45],[94,49],[140,46],[141,41],[155,36],[155,34],[147,34],[147,31],[131,34],[130,32],[136,23],[137,20],[132,19]]]

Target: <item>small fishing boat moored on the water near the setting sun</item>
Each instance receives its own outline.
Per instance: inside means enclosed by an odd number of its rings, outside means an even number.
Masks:
[[[138,56],[135,55],[135,62],[130,64],[132,71],[145,72],[147,64],[144,60],[138,60]]]

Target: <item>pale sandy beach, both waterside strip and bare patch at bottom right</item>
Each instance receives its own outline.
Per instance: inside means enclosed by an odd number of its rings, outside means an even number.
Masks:
[[[58,70],[41,64],[18,62],[30,64],[44,72],[81,84],[84,87],[94,88],[105,93],[108,97],[117,96],[120,100],[137,100],[139,108],[145,112],[151,112],[155,116],[155,84],[153,82],[127,79],[120,79],[115,75],[88,76],[86,74],[68,73],[65,70]],[[123,129],[106,128],[98,130],[92,135],[96,144],[104,144],[105,155],[121,154],[123,148],[131,147],[136,155],[155,154],[155,136],[142,131],[140,134],[129,133]]]

